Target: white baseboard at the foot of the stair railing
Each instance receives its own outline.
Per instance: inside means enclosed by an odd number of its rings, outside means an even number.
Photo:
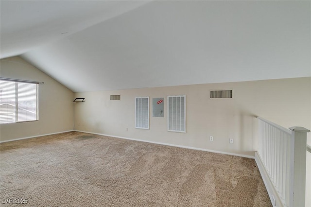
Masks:
[[[280,197],[278,196],[278,193],[273,185],[273,183],[270,180],[270,177],[267,173],[267,171],[264,168],[263,163],[261,162],[261,159],[257,152],[255,152],[255,161],[257,163],[259,172],[261,174],[262,180],[264,185],[266,186],[268,195],[271,200],[271,204],[273,207],[284,207],[283,203],[281,202]]]

